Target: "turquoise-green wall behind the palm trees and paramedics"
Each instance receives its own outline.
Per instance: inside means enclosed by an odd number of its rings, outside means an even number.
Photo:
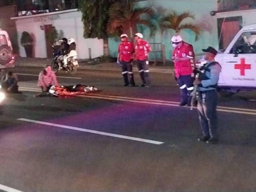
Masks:
[[[216,0],[146,0],[138,2],[140,7],[152,7],[152,8],[163,8],[166,13],[172,10],[182,13],[189,11],[195,16],[195,20],[186,19],[184,23],[191,22],[200,25],[204,30],[202,37],[195,42],[195,35],[190,30],[183,30],[180,35],[183,40],[192,44],[196,54],[201,54],[202,48],[212,46],[218,48],[218,32],[217,32],[217,20],[215,17],[210,15],[211,11],[217,9]],[[137,26],[138,32],[142,32],[144,39],[150,43],[160,43],[160,32],[154,37],[150,37],[150,31],[143,25]],[[166,58],[171,60],[171,54],[173,47],[170,44],[172,36],[175,34],[173,30],[166,30],[163,34],[162,42],[166,48]],[[119,44],[119,38],[109,38],[109,52],[111,57],[117,57],[117,47]],[[158,54],[157,57],[160,57]],[[150,59],[153,58],[153,54],[150,54]]]

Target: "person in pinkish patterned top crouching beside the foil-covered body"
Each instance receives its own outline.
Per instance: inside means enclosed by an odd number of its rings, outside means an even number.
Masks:
[[[42,93],[34,95],[34,97],[49,96],[48,93],[52,85],[59,87],[57,77],[55,73],[52,71],[52,67],[50,65],[47,65],[45,69],[39,73],[37,82],[37,86],[42,89]]]

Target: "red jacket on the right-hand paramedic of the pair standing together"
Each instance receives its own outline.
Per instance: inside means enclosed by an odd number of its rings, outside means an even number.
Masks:
[[[147,41],[140,41],[135,44],[135,60],[143,61],[148,58],[151,51],[150,44]]]

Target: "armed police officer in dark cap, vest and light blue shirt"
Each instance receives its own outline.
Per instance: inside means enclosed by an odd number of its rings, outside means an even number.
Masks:
[[[197,109],[203,136],[198,141],[206,143],[217,143],[217,83],[221,72],[221,66],[214,60],[217,51],[213,47],[203,49],[207,63],[200,69],[199,78],[196,78],[194,85],[198,85]]]

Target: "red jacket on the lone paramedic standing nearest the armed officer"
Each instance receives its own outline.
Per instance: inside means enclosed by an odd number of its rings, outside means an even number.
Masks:
[[[190,60],[174,63],[176,77],[180,75],[191,75],[193,72],[192,66],[194,65],[195,57],[193,46],[184,41],[182,41],[180,47],[175,47],[173,51],[173,60],[182,57],[188,57]]]

